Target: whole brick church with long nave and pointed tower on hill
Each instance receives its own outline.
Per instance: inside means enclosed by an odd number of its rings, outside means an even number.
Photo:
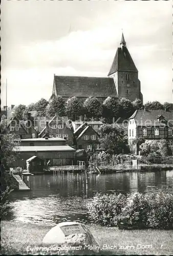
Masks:
[[[51,98],[61,95],[64,99],[76,96],[85,100],[90,96],[95,96],[103,101],[110,96],[143,101],[138,70],[128,52],[123,33],[120,46],[107,77],[54,75]]]

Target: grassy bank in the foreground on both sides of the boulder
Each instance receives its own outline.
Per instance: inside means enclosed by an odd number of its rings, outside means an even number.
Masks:
[[[101,254],[172,255],[171,230],[119,230],[115,227],[101,227],[93,224],[87,226],[100,248],[103,245],[117,246],[114,249],[102,250]],[[28,254],[27,246],[41,246],[42,239],[50,228],[51,226],[2,221],[1,254]],[[139,244],[145,245],[145,248],[140,248]],[[147,248],[148,245],[150,245],[149,248]],[[30,254],[34,252],[31,251]]]

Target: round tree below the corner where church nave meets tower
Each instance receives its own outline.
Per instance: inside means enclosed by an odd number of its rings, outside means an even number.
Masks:
[[[117,99],[115,98],[111,98],[111,97],[107,97],[104,101],[103,101],[103,116],[104,117],[118,117],[118,113],[119,113],[119,104]]]

